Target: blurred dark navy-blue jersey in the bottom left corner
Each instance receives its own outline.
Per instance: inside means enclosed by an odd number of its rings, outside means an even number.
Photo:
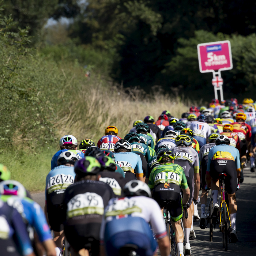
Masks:
[[[16,245],[20,255],[29,255],[34,250],[31,246],[29,234],[27,233],[26,225],[22,220],[19,212],[7,203],[0,200],[0,244],[1,256],[11,255],[8,249],[14,250],[15,247],[10,244]],[[6,248],[5,247],[6,244]]]

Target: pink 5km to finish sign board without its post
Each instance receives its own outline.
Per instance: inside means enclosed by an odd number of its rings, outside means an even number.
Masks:
[[[232,69],[230,42],[219,41],[197,45],[201,73]]]

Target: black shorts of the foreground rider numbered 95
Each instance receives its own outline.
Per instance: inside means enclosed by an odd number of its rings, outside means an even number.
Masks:
[[[89,215],[88,215],[89,216]],[[64,225],[65,236],[69,244],[79,251],[88,243],[91,243],[93,256],[99,255],[99,229],[101,223],[77,224],[74,226]]]

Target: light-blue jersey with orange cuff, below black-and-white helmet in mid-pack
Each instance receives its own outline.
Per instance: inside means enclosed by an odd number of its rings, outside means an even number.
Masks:
[[[119,165],[124,172],[136,172],[137,177],[143,177],[142,161],[140,156],[133,152],[114,153],[116,164]]]

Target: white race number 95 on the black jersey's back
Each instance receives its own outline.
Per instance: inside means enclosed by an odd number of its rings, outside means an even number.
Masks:
[[[103,215],[103,199],[96,193],[86,192],[74,196],[67,204],[67,217],[73,218],[80,215]]]

